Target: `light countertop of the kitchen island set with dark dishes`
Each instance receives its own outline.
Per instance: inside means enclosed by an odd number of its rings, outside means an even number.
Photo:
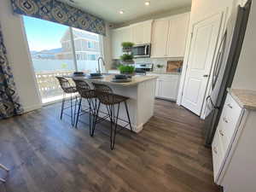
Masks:
[[[125,86],[137,85],[137,84],[143,83],[144,81],[158,78],[158,76],[156,76],[156,75],[152,75],[152,76],[151,75],[135,75],[132,77],[131,82],[115,83],[115,82],[112,82],[113,77],[114,77],[114,74],[103,76],[102,79],[90,79],[88,77],[76,77],[76,79],[84,79],[84,80],[88,80],[90,82],[95,82],[95,83],[112,84],[112,85],[119,85],[119,86],[125,87]]]

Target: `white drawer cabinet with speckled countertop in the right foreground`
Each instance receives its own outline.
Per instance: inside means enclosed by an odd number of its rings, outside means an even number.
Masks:
[[[214,181],[225,192],[254,192],[256,91],[230,90],[212,142]]]

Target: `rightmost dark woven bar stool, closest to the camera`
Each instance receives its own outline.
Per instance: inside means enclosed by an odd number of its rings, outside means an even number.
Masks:
[[[102,119],[98,120],[98,118],[99,118],[98,114],[99,114],[101,104],[103,104],[107,108],[107,111],[108,111],[107,116],[110,119],[110,128],[111,128],[111,130],[110,130],[110,148],[111,148],[111,150],[113,150],[114,143],[115,143],[115,137],[116,137],[116,133],[117,133],[118,120],[124,121],[127,123],[127,125],[130,125],[130,131],[132,132],[131,119],[130,119],[130,114],[129,114],[127,102],[126,102],[129,99],[129,97],[113,94],[113,90],[106,84],[96,84],[96,83],[92,83],[92,84],[95,87],[96,96],[99,100],[99,103],[96,106],[96,118],[95,118],[93,129],[92,129],[92,136],[94,135],[94,131],[96,129],[96,124],[102,121]],[[125,121],[124,119],[119,119],[119,107],[120,107],[121,102],[125,103],[125,111],[126,111],[128,122]],[[116,105],[117,105],[117,113],[115,114],[115,106]],[[103,119],[106,119],[106,118],[103,118]],[[127,125],[123,126],[123,129]]]

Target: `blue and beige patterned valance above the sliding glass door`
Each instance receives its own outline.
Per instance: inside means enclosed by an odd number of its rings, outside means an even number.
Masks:
[[[10,0],[14,12],[106,35],[105,22],[57,0]]]

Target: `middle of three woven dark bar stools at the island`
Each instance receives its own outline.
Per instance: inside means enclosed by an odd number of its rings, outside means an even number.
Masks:
[[[76,117],[75,128],[78,127],[79,116],[83,115],[84,113],[89,113],[90,115],[90,136],[92,136],[92,123],[94,122],[96,116],[96,102],[97,96],[96,91],[90,89],[90,85],[87,84],[84,80],[81,79],[73,79],[76,84],[76,89],[79,91],[80,99],[79,99],[79,110]],[[89,108],[84,110],[84,113],[80,113],[83,111],[82,108],[82,100],[83,98],[88,102]],[[91,119],[92,116],[92,119]]]

